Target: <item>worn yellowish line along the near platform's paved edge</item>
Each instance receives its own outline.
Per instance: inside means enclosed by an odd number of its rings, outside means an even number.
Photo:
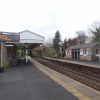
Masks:
[[[79,100],[92,100],[90,97],[84,95],[83,93],[81,93],[79,90],[77,90],[75,87],[73,87],[72,85],[64,82],[63,80],[61,80],[62,78],[56,74],[50,74],[49,72],[47,72],[46,69],[48,69],[47,67],[45,68],[44,65],[33,61],[32,62],[35,64],[35,66],[37,68],[39,68],[42,72],[44,72],[46,75],[48,75],[51,79],[53,79],[56,83],[58,83],[59,85],[61,85],[63,88],[65,88],[65,90],[67,90],[68,92],[72,93],[74,96],[78,97]],[[41,66],[41,67],[40,67]]]

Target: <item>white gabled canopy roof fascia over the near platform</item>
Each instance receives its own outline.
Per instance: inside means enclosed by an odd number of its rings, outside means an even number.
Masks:
[[[29,30],[22,32],[2,32],[0,39],[7,41],[9,43],[39,43],[42,44],[45,38]]]

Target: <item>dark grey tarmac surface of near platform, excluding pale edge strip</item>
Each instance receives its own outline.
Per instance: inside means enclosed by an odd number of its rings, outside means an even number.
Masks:
[[[33,65],[0,73],[0,100],[78,100]]]

